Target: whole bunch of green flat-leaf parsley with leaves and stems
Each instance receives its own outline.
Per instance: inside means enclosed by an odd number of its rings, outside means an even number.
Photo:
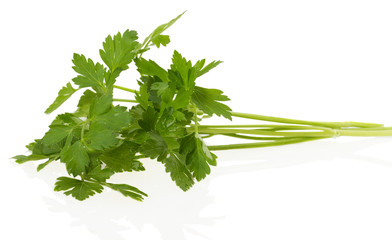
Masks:
[[[182,190],[210,174],[217,164],[211,151],[278,146],[336,136],[390,136],[392,128],[358,122],[313,122],[233,112],[229,98],[218,89],[198,86],[197,79],[219,66],[221,61],[192,63],[174,51],[168,69],[143,53],[152,47],[166,46],[170,38],[162,33],[183,14],[156,28],[139,42],[136,31],[126,30],[108,36],[99,50],[103,63],[81,54],[72,62],[76,77],[63,87],[46,109],[51,113],[73,93],[85,89],[73,113],[59,114],[41,139],[27,145],[31,155],[17,155],[17,163],[42,161],[65,164],[70,177],[59,177],[55,191],[64,191],[78,200],[101,193],[104,187],[141,201],[147,196],[127,184],[108,182],[118,172],[144,171],[140,159],[161,162]],[[116,84],[117,77],[135,64],[140,73],[139,89]],[[113,89],[134,95],[133,99],[113,98]],[[130,102],[131,108],[115,102]],[[202,125],[211,116],[274,122],[256,125]],[[223,135],[253,140],[251,143],[207,146],[204,138]]]

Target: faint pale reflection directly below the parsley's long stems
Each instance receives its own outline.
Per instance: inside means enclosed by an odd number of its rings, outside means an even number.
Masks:
[[[391,141],[392,138],[390,137],[356,139],[350,142],[337,142],[332,139],[326,139],[270,148],[227,150],[218,152],[218,157],[221,159],[221,162],[228,166],[218,167],[214,176],[258,171],[260,169],[290,167],[315,161],[333,161],[341,158],[392,167],[392,161],[359,153],[375,145],[390,143]]]

